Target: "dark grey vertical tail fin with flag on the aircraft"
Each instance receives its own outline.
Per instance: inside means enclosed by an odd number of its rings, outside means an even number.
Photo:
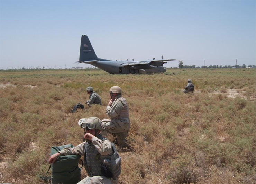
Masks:
[[[91,42],[87,35],[82,35],[81,38],[81,46],[80,46],[80,61],[93,61],[98,60],[98,57],[96,56]]]

